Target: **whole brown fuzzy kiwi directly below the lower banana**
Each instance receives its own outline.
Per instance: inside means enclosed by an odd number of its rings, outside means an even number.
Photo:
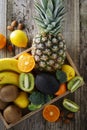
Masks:
[[[19,90],[15,85],[5,85],[0,89],[0,100],[3,102],[14,101],[19,94]]]

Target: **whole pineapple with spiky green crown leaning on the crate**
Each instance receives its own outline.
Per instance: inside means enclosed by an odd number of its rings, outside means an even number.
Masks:
[[[61,69],[66,57],[66,44],[61,34],[61,22],[65,14],[62,0],[37,0],[35,20],[40,27],[33,39],[32,55],[36,68],[41,71]]]

